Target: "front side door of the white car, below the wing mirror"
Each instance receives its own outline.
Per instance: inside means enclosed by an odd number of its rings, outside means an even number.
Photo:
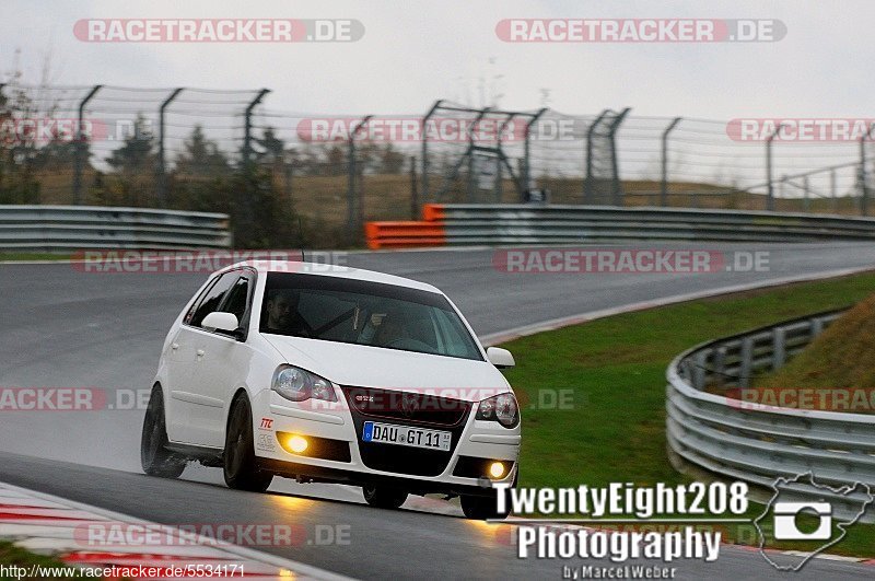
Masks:
[[[248,314],[255,272],[244,269],[225,293],[217,312],[232,313],[240,322],[240,335],[213,329],[199,329],[195,339],[195,381],[197,396],[203,409],[198,422],[198,441],[211,448],[224,446],[225,412],[231,397],[246,384],[252,349],[246,345]]]

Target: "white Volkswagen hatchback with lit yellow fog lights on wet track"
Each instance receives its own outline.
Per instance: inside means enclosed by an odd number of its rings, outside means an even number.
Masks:
[[[498,514],[515,484],[520,409],[436,288],[308,263],[241,263],[212,275],[164,341],[145,412],[143,470],[221,466],[231,488],[273,476],[361,486],[376,507],[409,493],[462,497]]]

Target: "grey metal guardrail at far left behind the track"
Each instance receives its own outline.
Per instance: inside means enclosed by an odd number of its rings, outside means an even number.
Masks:
[[[228,248],[229,216],[145,208],[0,206],[0,249]]]

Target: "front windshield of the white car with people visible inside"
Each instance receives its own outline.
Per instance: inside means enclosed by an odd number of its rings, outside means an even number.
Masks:
[[[271,272],[261,333],[482,361],[443,294],[319,275]]]

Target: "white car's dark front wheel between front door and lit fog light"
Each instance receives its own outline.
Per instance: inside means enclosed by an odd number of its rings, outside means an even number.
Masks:
[[[225,484],[236,490],[264,492],[273,475],[258,469],[253,441],[253,411],[245,395],[237,396],[228,417],[223,472]]]

